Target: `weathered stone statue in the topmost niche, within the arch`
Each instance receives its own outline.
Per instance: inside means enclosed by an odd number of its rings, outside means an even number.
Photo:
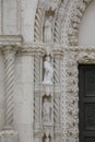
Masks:
[[[45,22],[44,42],[45,43],[52,42],[52,16],[49,16],[49,19],[47,19]]]

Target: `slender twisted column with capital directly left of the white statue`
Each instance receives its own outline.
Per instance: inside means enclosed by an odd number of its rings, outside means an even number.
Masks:
[[[34,94],[34,138],[35,142],[41,141],[41,81],[43,81],[43,56],[44,50],[39,46],[35,48],[34,58],[34,82],[35,82],[35,94]]]

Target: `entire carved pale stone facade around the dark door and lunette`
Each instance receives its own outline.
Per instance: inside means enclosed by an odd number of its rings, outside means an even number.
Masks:
[[[0,0],[0,142],[79,142],[79,64],[95,63],[79,28],[92,1]]]

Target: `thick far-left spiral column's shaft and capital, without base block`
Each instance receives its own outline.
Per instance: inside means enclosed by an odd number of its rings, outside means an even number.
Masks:
[[[14,95],[14,60],[16,54],[15,46],[4,46],[4,73],[5,73],[5,111],[4,125],[10,126],[13,122],[13,95]]]

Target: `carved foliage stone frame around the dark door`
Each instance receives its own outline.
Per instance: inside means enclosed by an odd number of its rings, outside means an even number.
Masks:
[[[79,63],[95,63],[95,48],[70,47],[63,54],[62,139],[79,142]],[[64,96],[63,96],[64,95]],[[66,110],[63,110],[66,107]]]

